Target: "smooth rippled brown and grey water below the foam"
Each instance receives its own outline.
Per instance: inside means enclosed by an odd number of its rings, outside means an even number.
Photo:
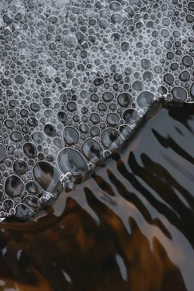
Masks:
[[[194,104],[162,108],[31,222],[0,224],[2,291],[193,291]]]

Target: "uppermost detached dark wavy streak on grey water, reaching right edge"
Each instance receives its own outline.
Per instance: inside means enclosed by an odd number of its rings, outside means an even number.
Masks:
[[[188,154],[182,147],[180,147],[169,135],[167,138],[165,138],[155,129],[152,129],[152,132],[157,138],[158,142],[161,144],[161,146],[165,148],[172,148],[172,150],[174,150],[174,152],[176,152],[179,156],[194,165],[194,158],[190,154]]]

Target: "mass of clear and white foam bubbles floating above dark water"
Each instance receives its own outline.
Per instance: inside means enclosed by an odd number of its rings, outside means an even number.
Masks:
[[[1,0],[0,216],[74,189],[154,100],[191,101],[193,25],[187,0]]]

